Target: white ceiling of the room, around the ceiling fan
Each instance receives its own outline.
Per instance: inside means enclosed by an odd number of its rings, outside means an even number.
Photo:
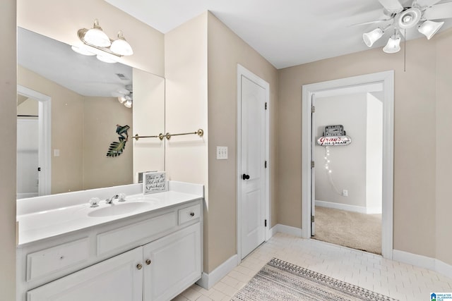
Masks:
[[[386,18],[378,0],[105,1],[162,33],[211,11],[278,69],[364,51],[362,34],[377,25],[350,25]],[[400,2],[410,6],[412,1]],[[448,20],[441,30],[451,25]],[[390,35],[386,32],[372,48],[383,47]],[[415,29],[407,34],[416,37],[424,36]]]

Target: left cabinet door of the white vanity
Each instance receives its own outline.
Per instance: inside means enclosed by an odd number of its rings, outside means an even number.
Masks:
[[[105,260],[29,290],[28,301],[141,301],[143,248]],[[138,269],[139,268],[139,269]]]

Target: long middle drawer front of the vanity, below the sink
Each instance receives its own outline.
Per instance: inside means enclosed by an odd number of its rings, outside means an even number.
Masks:
[[[97,255],[124,247],[130,248],[134,242],[140,242],[144,238],[163,233],[174,227],[177,227],[176,211],[98,234]]]

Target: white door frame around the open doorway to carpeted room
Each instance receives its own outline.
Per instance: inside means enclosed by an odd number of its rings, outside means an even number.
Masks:
[[[394,71],[383,71],[302,86],[302,175],[311,175],[311,96],[340,87],[383,84],[383,188],[381,251],[393,258]],[[302,238],[311,238],[311,176],[302,177]]]

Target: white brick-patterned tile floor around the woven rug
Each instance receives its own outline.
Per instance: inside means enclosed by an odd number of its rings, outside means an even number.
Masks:
[[[452,292],[452,278],[434,271],[326,242],[277,233],[210,290],[195,284],[173,301],[230,300],[273,257],[398,300],[430,300],[430,293]]]

